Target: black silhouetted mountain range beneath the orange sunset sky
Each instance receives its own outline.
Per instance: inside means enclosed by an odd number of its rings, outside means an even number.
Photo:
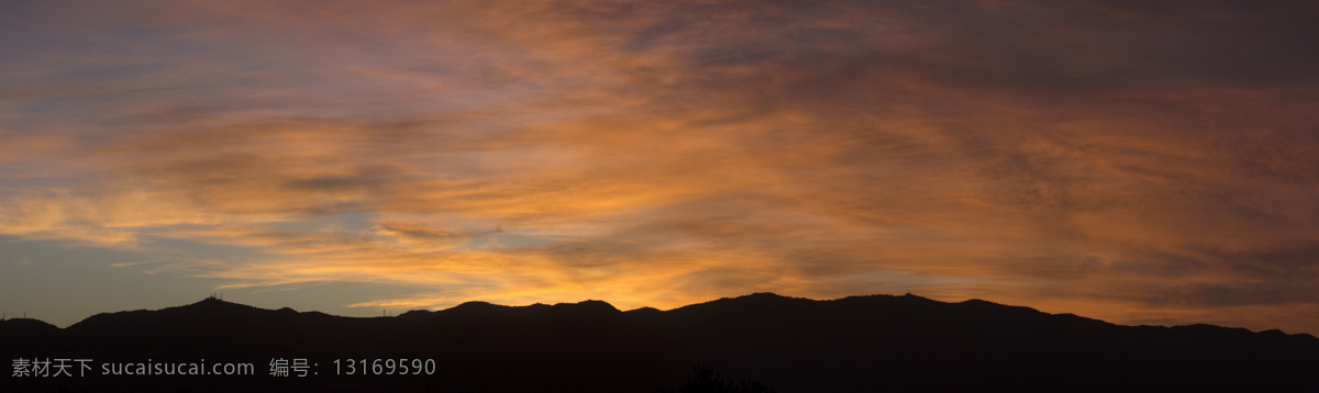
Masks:
[[[752,294],[625,313],[470,302],[393,318],[206,299],[67,328],[3,320],[0,357],[0,392],[694,392],[696,365],[777,392],[1319,392],[1310,335],[915,295]],[[720,386],[700,392],[737,388]]]

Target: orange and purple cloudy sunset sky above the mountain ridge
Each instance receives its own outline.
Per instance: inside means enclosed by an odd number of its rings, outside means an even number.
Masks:
[[[1316,4],[4,1],[0,309],[1319,334]]]

